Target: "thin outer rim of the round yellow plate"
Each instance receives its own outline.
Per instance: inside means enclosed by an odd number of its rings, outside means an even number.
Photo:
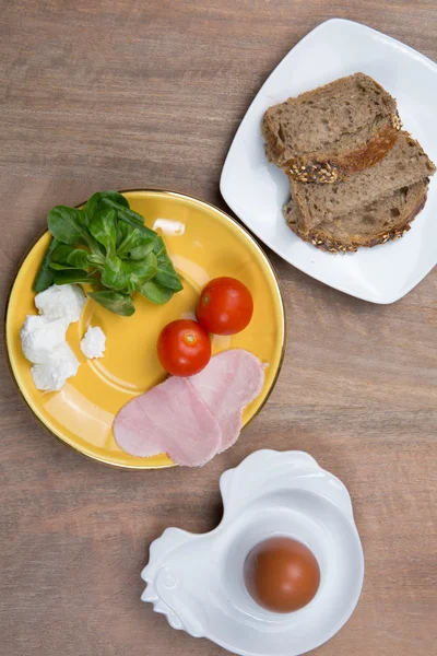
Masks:
[[[129,188],[129,189],[121,189],[118,191],[119,194],[137,194],[137,192],[142,192],[142,194],[160,194],[163,196],[172,196],[172,197],[176,197],[176,198],[184,198],[184,199],[188,199],[188,200],[194,200],[197,203],[199,203],[200,206],[204,206],[206,208],[211,208],[213,209],[215,212],[218,212],[218,214],[221,214],[226,221],[232,221],[232,223],[241,232],[244,233],[253,244],[253,246],[259,250],[264,263],[267,265],[268,269],[270,269],[270,272],[273,276],[273,280],[275,283],[275,289],[280,298],[280,306],[281,306],[281,319],[282,319],[282,329],[283,329],[283,340],[282,340],[282,344],[281,344],[281,356],[280,356],[280,361],[277,363],[277,370],[276,373],[274,375],[274,378],[270,385],[269,390],[267,391],[262,403],[260,405],[260,407],[258,408],[258,410],[255,412],[255,414],[248,420],[248,422],[241,427],[241,433],[251,423],[251,421],[261,412],[262,408],[265,406],[267,401],[270,398],[270,395],[272,394],[279,375],[281,373],[282,370],[282,365],[284,362],[284,356],[285,356],[285,348],[286,348],[286,315],[285,315],[285,306],[284,306],[284,298],[283,298],[283,294],[282,294],[282,290],[281,290],[281,283],[279,281],[276,271],[274,270],[273,265],[271,263],[271,261],[269,260],[267,254],[264,253],[263,248],[260,246],[260,244],[258,244],[258,242],[255,239],[255,237],[251,235],[251,233],[245,227],[243,226],[240,223],[238,223],[238,221],[236,221],[233,216],[231,216],[231,214],[227,214],[226,212],[224,212],[223,210],[221,210],[220,208],[217,208],[216,206],[212,204],[211,202],[208,202],[206,200],[202,200],[200,198],[197,198],[196,196],[190,196],[188,194],[181,194],[179,191],[168,191],[165,189],[155,189],[155,188],[147,188],[147,189],[141,189],[141,188]],[[76,204],[76,208],[82,208],[85,203],[81,202],[79,204]],[[36,412],[33,410],[33,408],[31,407],[31,405],[28,403],[27,399],[25,398],[16,378],[13,372],[13,367],[12,367],[12,363],[11,363],[11,359],[9,355],[9,347],[8,347],[8,338],[7,338],[7,321],[8,321],[8,309],[9,309],[9,303],[10,303],[10,298],[11,298],[11,294],[12,294],[12,290],[16,280],[16,277],[20,272],[21,267],[23,266],[25,259],[27,258],[27,256],[29,255],[31,250],[34,248],[34,246],[39,242],[39,239],[47,233],[47,230],[44,230],[33,242],[32,244],[28,246],[28,248],[25,250],[24,255],[22,256],[22,258],[20,259],[14,274],[13,274],[13,279],[12,282],[9,286],[9,291],[8,291],[8,296],[5,300],[5,304],[4,304],[4,309],[3,309],[3,343],[5,345],[5,355],[7,355],[7,363],[8,363],[8,368],[9,368],[9,373],[11,375],[12,382],[15,386],[15,388],[19,391],[20,397],[22,398],[22,400],[24,401],[24,405],[26,406],[26,408],[31,411],[32,415],[34,417],[34,419],[36,419],[36,421],[44,427],[44,430],[46,431],[46,433],[48,433],[49,435],[51,435],[52,437],[55,437],[60,444],[62,444],[63,446],[66,446],[67,448],[80,454],[81,456],[84,456],[85,458],[90,458],[91,460],[95,460],[97,462],[101,462],[103,465],[107,465],[108,467],[115,467],[116,469],[126,469],[126,470],[156,470],[156,469],[170,469],[173,467],[178,467],[178,465],[176,465],[175,462],[172,465],[161,465],[161,466],[154,466],[154,467],[143,467],[141,465],[120,465],[118,462],[111,462],[105,458],[99,458],[97,456],[94,456],[92,454],[86,454],[83,450],[81,450],[80,448],[76,448],[75,446],[73,446],[72,444],[69,444],[68,442],[66,442],[62,437],[60,437],[59,435],[57,435],[56,433],[54,433],[45,423],[44,421],[36,414]]]

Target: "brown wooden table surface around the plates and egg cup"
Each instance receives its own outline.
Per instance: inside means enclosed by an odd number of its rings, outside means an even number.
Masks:
[[[308,31],[361,21],[437,59],[436,0],[2,0],[0,288],[58,203],[158,187],[221,208],[248,104]],[[1,361],[0,653],[220,656],[140,602],[167,526],[212,529],[221,472],[261,447],[304,449],[351,491],[366,577],[320,656],[429,656],[437,644],[437,270],[376,306],[270,253],[288,317],[276,388],[200,470],[118,471],[48,436]]]

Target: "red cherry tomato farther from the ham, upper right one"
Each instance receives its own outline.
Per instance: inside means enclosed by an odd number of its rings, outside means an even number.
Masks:
[[[200,294],[198,320],[214,335],[239,332],[249,324],[252,314],[252,295],[235,278],[214,278]]]

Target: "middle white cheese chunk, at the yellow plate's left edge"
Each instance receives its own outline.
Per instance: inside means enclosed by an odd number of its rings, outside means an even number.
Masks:
[[[23,353],[34,364],[45,362],[51,351],[66,341],[68,323],[27,315],[20,331]]]

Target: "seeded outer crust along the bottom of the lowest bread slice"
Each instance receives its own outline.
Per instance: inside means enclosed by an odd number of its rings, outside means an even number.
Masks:
[[[426,183],[424,185],[424,190],[423,190],[422,197],[415,204],[414,209],[406,216],[404,216],[402,219],[402,221],[400,221],[394,227],[392,227],[389,232],[381,230],[378,233],[376,233],[375,235],[373,235],[371,237],[365,236],[361,239],[352,239],[351,238],[351,239],[341,242],[338,239],[333,239],[323,233],[317,232],[317,230],[310,230],[309,232],[306,232],[305,230],[303,230],[303,225],[299,222],[291,224],[290,221],[287,221],[288,203],[286,206],[284,206],[284,216],[285,216],[288,227],[291,230],[293,230],[293,232],[298,237],[304,239],[304,242],[309,242],[317,248],[320,248],[321,250],[327,250],[332,254],[339,254],[339,253],[345,254],[347,251],[356,253],[357,248],[359,248],[361,246],[371,248],[374,246],[378,246],[379,244],[386,244],[390,239],[399,239],[399,238],[403,237],[403,235],[411,230],[410,224],[412,223],[412,221],[414,221],[414,219],[417,216],[417,214],[420,214],[420,212],[425,207],[426,199],[427,199],[427,190],[428,190],[428,180],[426,180]]]

